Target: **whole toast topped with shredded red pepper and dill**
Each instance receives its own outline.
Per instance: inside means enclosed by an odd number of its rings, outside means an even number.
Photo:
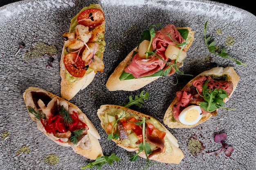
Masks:
[[[97,129],[74,104],[37,87],[23,94],[29,116],[49,139],[95,160],[103,156]]]

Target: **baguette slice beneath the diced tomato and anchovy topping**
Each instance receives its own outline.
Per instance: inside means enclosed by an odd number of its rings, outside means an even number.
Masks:
[[[106,115],[108,112],[111,112],[111,114],[116,114],[115,111],[120,111],[126,113],[126,118],[129,117],[136,117],[139,120],[142,120],[143,117],[145,117],[146,122],[151,122],[154,124],[155,127],[157,127],[159,130],[164,131],[166,133],[164,140],[164,146],[166,147],[166,150],[163,153],[159,153],[156,155],[153,155],[150,157],[150,160],[155,160],[159,162],[164,163],[180,163],[180,161],[184,158],[184,154],[182,153],[182,150],[179,148],[179,144],[177,142],[177,139],[171,134],[170,131],[168,131],[165,126],[163,126],[158,120],[155,118],[145,115],[143,113],[139,113],[137,111],[128,109],[126,107],[118,106],[118,105],[101,105],[101,107],[97,111],[97,115],[99,119],[101,120],[101,126],[106,131],[106,133],[109,134],[109,132],[106,130],[106,126],[108,124],[108,118],[106,118]],[[122,114],[122,113],[121,113]],[[108,116],[107,116],[108,117]],[[131,132],[132,133],[132,132]],[[120,139],[120,138],[119,138]],[[119,139],[112,139],[118,146],[121,148],[124,148],[125,150],[129,152],[138,152],[139,147],[137,146],[131,146],[130,144],[124,144],[124,142],[121,142]],[[146,158],[146,155],[143,152],[139,153],[140,157]]]

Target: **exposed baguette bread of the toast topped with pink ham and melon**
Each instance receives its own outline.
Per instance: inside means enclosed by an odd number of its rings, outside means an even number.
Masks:
[[[194,31],[192,31],[191,28],[185,27],[185,28],[177,28],[177,29],[187,29],[189,31],[188,38],[191,37],[191,39],[188,41],[187,45],[184,47],[184,49],[187,51],[189,47],[192,45],[194,41]],[[130,64],[130,61],[132,59],[132,55],[134,51],[137,51],[137,47],[134,48],[127,56],[126,58],[119,63],[117,68],[114,70],[114,72],[110,75],[108,78],[108,81],[106,83],[106,87],[109,89],[109,91],[116,91],[116,90],[124,90],[124,91],[135,91],[137,89],[140,89],[144,87],[145,85],[151,83],[152,81],[155,81],[160,76],[155,77],[142,77],[142,78],[135,78],[130,80],[122,80],[120,81],[119,77],[124,71],[124,68],[126,68],[127,65]]]

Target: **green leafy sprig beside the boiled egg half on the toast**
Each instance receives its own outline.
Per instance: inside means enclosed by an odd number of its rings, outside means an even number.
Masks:
[[[207,80],[204,85],[202,85],[202,95],[198,94],[204,99],[205,102],[199,102],[199,106],[204,109],[205,111],[212,112],[219,108],[231,110],[225,107],[222,107],[225,105],[225,102],[223,101],[224,98],[228,98],[226,90],[224,89],[208,89],[207,83],[209,81]],[[197,89],[198,91],[198,89]]]

